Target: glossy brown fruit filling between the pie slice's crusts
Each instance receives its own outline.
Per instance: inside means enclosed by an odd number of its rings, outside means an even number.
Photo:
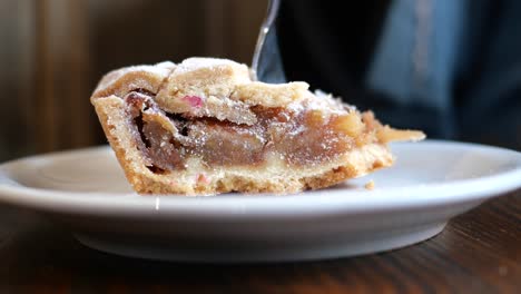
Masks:
[[[286,165],[314,165],[376,140],[370,127],[374,121],[362,121],[355,112],[323,117],[322,111],[306,108],[255,106],[250,110],[257,122],[248,126],[167,114],[147,92],[130,92],[125,101],[137,147],[149,169],[158,174],[184,169],[191,156],[208,166],[262,165],[268,155]]]

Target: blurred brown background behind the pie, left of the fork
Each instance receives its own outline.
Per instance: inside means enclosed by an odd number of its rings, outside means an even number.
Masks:
[[[0,161],[105,144],[109,70],[191,56],[250,63],[266,0],[0,0]]]

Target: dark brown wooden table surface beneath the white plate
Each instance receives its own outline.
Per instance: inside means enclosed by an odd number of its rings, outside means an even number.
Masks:
[[[521,189],[436,237],[374,255],[265,265],[125,258],[0,206],[0,293],[521,293]]]

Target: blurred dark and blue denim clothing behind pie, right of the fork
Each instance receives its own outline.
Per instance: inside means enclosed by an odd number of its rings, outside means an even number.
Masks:
[[[363,21],[374,16],[356,11],[337,21],[342,13],[330,17],[336,8],[321,11],[333,3],[286,1],[277,29],[289,79],[431,138],[521,149],[521,1],[390,0],[374,45],[361,50],[351,47],[366,41]],[[362,8],[373,13],[381,2]]]

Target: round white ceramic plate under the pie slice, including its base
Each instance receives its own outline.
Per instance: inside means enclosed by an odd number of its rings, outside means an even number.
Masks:
[[[190,262],[273,262],[374,253],[440,233],[521,186],[521,154],[449,141],[394,144],[395,166],[298,195],[139,196],[109,147],[0,166],[0,202],[42,212],[85,245]],[[373,179],[375,189],[364,184]]]

